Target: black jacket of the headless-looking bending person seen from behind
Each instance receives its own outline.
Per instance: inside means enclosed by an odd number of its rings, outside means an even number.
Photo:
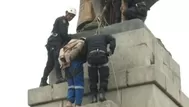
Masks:
[[[110,44],[110,50],[114,53],[116,40],[111,35],[96,35],[86,39],[87,54],[93,50],[99,49],[107,52],[107,45]]]

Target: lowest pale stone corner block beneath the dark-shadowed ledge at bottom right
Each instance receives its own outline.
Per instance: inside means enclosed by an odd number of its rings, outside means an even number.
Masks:
[[[122,90],[122,107],[179,107],[156,85],[142,85]]]

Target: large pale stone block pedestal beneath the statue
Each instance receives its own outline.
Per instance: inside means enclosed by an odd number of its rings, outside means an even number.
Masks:
[[[75,36],[93,36],[95,30]],[[138,19],[101,29],[117,41],[110,57],[109,91],[104,103],[89,104],[87,67],[85,72],[84,107],[189,107],[189,99],[181,91],[180,66],[163,44]],[[115,76],[114,76],[115,73]],[[28,90],[31,107],[65,107],[67,83]],[[116,83],[116,82],[117,83]],[[118,90],[116,87],[118,86]]]

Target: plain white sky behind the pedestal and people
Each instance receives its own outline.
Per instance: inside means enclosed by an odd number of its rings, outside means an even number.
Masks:
[[[188,0],[160,0],[146,25],[181,66],[182,90],[189,96]],[[27,90],[39,86],[47,60],[44,47],[54,20],[79,0],[0,0],[0,106],[27,106]],[[75,33],[78,16],[69,32]]]

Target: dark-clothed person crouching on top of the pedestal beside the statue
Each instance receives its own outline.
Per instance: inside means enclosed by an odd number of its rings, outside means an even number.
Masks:
[[[121,9],[126,20],[140,19],[143,22],[146,20],[148,8],[143,0],[125,0]]]

